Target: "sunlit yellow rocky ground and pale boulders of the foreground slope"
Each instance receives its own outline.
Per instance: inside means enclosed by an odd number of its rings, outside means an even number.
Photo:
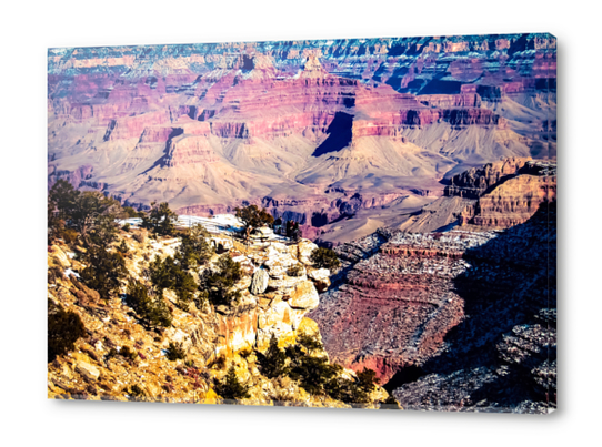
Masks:
[[[300,335],[320,338],[318,326],[305,316],[319,304],[317,287],[323,291],[330,284],[329,271],[315,270],[309,261],[315,245],[302,240],[289,246],[272,243],[268,247],[245,247],[238,243],[233,246],[231,240],[219,235],[212,237],[229,247],[228,255],[242,265],[245,274],[234,285],[241,296],[232,305],[204,302],[200,308],[191,304],[184,311],[175,294],[167,289],[163,299],[173,316],[169,328],[148,326],[124,299],[102,299],[78,281],[77,272],[84,265],[77,253],[82,248],[72,252],[72,246],[60,242],[50,246],[49,309],[61,306],[76,313],[86,334],[73,351],[49,363],[48,396],[221,403],[223,398],[217,394],[215,384],[233,365],[238,379],[249,386],[250,397],[241,399],[242,404],[352,405],[310,394],[285,375],[270,379],[260,373],[258,356],[269,347],[272,336],[282,347],[297,343]],[[178,237],[151,238],[142,230],[122,232],[116,245],[121,241],[128,247],[130,281],[142,282],[149,261],[155,255],[173,255],[180,243]],[[300,274],[289,276],[291,266],[298,266]],[[182,344],[184,358],[170,360],[165,356],[170,343]],[[321,348],[311,355],[328,359]],[[354,377],[350,370],[339,374],[343,378]],[[387,396],[387,392],[375,387],[370,397],[372,404],[362,406],[378,408]]]

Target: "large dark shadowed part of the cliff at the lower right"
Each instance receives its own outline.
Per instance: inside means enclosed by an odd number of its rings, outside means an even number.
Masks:
[[[543,203],[524,224],[464,253],[470,267],[454,287],[465,319],[422,366],[430,382],[422,376],[402,388],[408,402],[520,413],[555,407],[555,222],[556,203]]]

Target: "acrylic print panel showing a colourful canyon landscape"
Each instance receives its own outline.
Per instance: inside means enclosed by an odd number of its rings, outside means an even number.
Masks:
[[[552,35],[48,58],[50,398],[556,407]]]

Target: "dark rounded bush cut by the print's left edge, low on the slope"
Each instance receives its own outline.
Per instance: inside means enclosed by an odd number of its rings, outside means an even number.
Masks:
[[[77,313],[48,302],[48,362],[73,351],[76,342],[86,334],[86,326]]]

